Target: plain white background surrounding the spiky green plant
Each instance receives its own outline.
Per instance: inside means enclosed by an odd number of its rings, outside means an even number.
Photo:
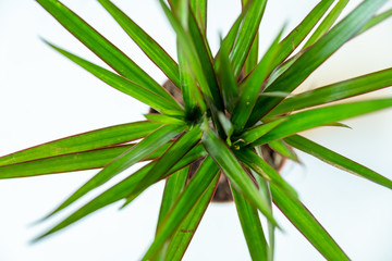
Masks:
[[[157,80],[164,80],[96,1],[64,2]],[[284,22],[292,28],[317,2],[270,0],[260,28],[262,48]],[[347,10],[358,2],[351,1]],[[118,0],[115,3],[175,57],[175,37],[158,1]],[[238,13],[240,0],[210,0],[209,8],[208,36],[212,49],[217,50],[218,33],[229,29]],[[391,28],[392,21],[389,21],[352,40],[303,88],[391,66]],[[35,1],[0,0],[0,154],[140,120],[147,112],[142,103],[111,89],[56,53],[38,36],[102,64]],[[388,90],[377,92],[377,96],[388,95]],[[305,135],[392,178],[391,120],[392,110],[385,110],[346,121],[353,129],[324,127]],[[392,192],[309,156],[299,153],[299,157],[305,167],[287,163],[283,175],[346,253],[353,260],[392,260]],[[148,189],[125,210],[118,211],[121,204],[113,204],[39,244],[28,245],[29,239],[61,216],[45,224],[32,223],[95,173],[0,181],[0,261],[139,259],[154,237],[163,184]],[[277,235],[275,260],[323,260],[278,210],[275,213],[285,231]],[[249,260],[233,204],[209,207],[184,260]]]

